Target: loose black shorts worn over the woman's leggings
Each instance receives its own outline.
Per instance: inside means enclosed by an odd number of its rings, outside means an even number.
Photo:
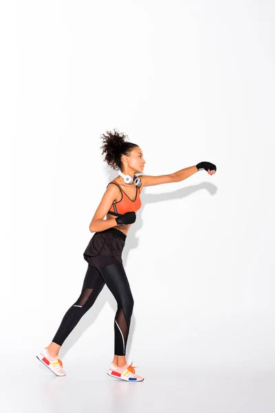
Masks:
[[[126,235],[119,229],[109,228],[91,237],[83,256],[91,266],[102,267],[120,262]]]

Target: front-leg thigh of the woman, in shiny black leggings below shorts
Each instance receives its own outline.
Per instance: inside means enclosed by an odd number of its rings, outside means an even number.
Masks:
[[[123,264],[100,267],[100,273],[118,303],[133,304],[133,296]]]

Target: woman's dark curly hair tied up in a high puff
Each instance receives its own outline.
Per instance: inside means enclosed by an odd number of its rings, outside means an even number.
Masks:
[[[128,136],[121,134],[119,131],[107,131],[106,134],[102,134],[100,139],[103,143],[100,147],[102,149],[102,155],[104,155],[104,160],[113,169],[122,168],[121,156],[129,156],[131,150],[134,147],[138,147],[135,143],[127,142],[125,139]]]

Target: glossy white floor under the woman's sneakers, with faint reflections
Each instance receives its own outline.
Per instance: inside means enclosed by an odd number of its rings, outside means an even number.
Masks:
[[[29,366],[20,360],[6,361],[1,370],[4,413],[275,412],[275,372],[146,366],[138,369],[144,381],[127,383],[107,376],[106,369],[93,366],[91,359],[67,360],[65,377],[56,377],[35,355]]]

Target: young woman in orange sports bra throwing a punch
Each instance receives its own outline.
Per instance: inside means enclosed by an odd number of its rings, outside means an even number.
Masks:
[[[133,363],[126,363],[126,344],[134,301],[122,264],[126,235],[135,222],[135,212],[142,204],[140,193],[144,187],[182,181],[201,169],[212,175],[217,168],[211,162],[200,162],[168,175],[137,177],[135,173],[142,173],[146,163],[142,149],[135,143],[127,142],[126,135],[117,131],[107,131],[101,138],[104,160],[113,169],[118,169],[119,175],[107,185],[89,225],[94,235],[83,253],[88,268],[80,296],[65,313],[50,345],[36,357],[57,376],[65,376],[58,352],[106,284],[118,304],[114,320],[114,357],[107,374],[125,381],[142,381],[144,378],[135,374]]]

